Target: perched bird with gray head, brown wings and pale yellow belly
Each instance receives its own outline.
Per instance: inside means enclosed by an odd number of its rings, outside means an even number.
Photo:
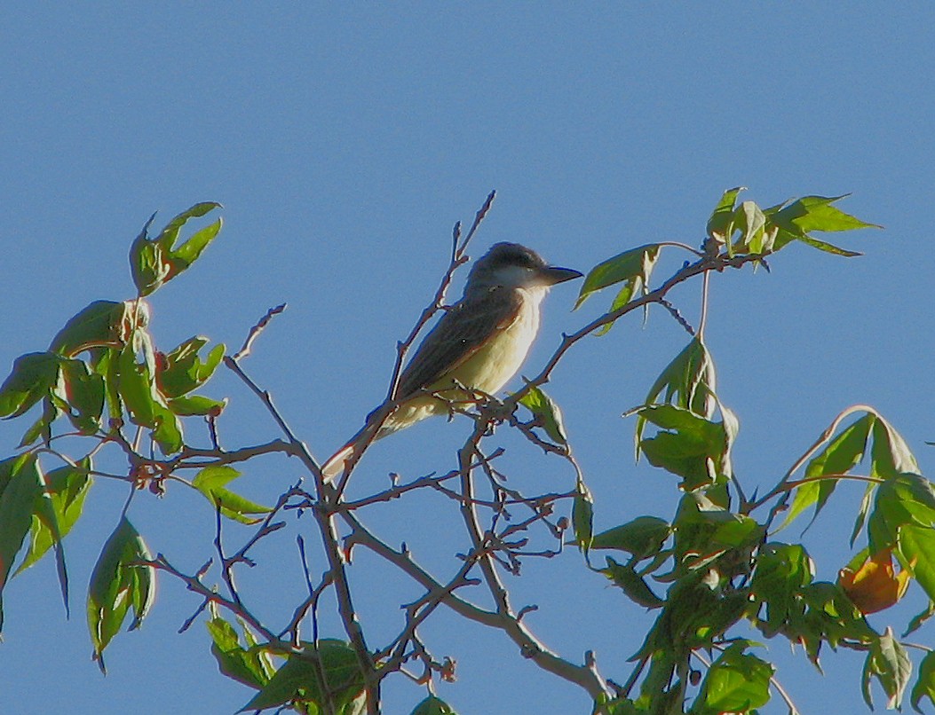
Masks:
[[[377,408],[364,427],[322,466],[330,481],[356,462],[375,439],[433,415],[453,403],[494,395],[519,371],[539,333],[539,306],[558,283],[580,271],[548,265],[518,243],[496,243],[472,266],[464,295],[447,307],[399,376],[396,407]]]

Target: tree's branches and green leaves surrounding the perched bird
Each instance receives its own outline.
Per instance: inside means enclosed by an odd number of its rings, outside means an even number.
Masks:
[[[196,204],[154,237],[151,217],[130,248],[137,295],[79,310],[51,339],[49,350],[18,358],[0,388],[0,416],[25,421],[21,444],[0,461],[0,594],[12,576],[50,555],[67,608],[65,538],[92,488],[118,488],[126,491],[126,503],[115,515],[116,527],[102,546],[87,593],[98,664],[103,670],[108,645],[128,616],[131,630],[146,619],[157,578],[179,579],[198,599],[183,627],[205,622],[206,648],[223,675],[255,691],[241,711],[374,713],[381,708],[382,681],[405,676],[427,691],[413,715],[453,712],[433,687],[439,679],[453,679],[453,659],[433,652],[420,631],[439,607],[499,630],[540,668],[581,687],[596,713],[753,712],[777,696],[795,712],[775,666],[748,637],[752,631],[800,647],[816,666],[827,648],[866,653],[861,687],[869,706],[874,687],[882,689],[889,707],[901,708],[907,693],[916,709],[926,699],[935,702],[933,651],[903,640],[935,613],[935,488],[912,450],[875,409],[846,408],[811,447],[790,455],[788,471],[769,491],[748,494],[733,468],[739,420],[717,391],[704,335],[707,316],[702,312],[695,327],[669,297],[685,283],[694,281],[705,293],[721,274],[769,269],[768,262],[793,242],[854,256],[816,234],[872,224],[841,211],[840,196],[804,196],[761,208],[740,201],[740,194],[733,189],[721,197],[699,249],[655,243],[596,265],[583,281],[576,307],[611,289],[616,293],[605,312],[563,336],[539,374],[502,402],[479,395],[476,404],[452,406],[473,421],[453,468],[396,479],[354,498],[347,496],[354,465],[337,483],[324,480],[305,443],[244,369],[254,341],[282,306],[253,326],[237,352],[223,344],[210,347],[202,336],[168,350],[157,347],[144,298],[193,265],[222,223],[209,223],[180,242],[189,222],[220,206]],[[444,306],[493,198],[491,193],[467,235],[455,226],[450,264],[432,302],[399,344],[391,384],[417,336]],[[681,251],[688,260],[656,280],[654,268],[664,250]],[[661,370],[644,403],[627,414],[634,419],[637,458],[676,478],[678,508],[598,531],[596,524],[612,522],[615,510],[595,503],[572,454],[561,409],[544,386],[555,365],[585,336],[603,335],[630,313],[645,314],[652,306],[686,332],[685,347]],[[233,448],[221,444],[217,424],[226,401],[201,393],[221,365],[256,393],[259,406],[279,425],[279,438]],[[382,409],[393,407],[388,398]],[[516,430],[567,464],[568,489],[528,493],[511,486],[500,467],[497,429]],[[106,452],[122,455],[124,472],[96,467]],[[241,474],[237,465],[269,454],[296,458],[307,478],[266,506],[238,494],[234,484]],[[782,540],[783,532],[805,516],[817,516],[847,482],[864,489],[853,528],[838,535],[849,539],[854,557],[836,581],[816,580],[805,545]],[[135,494],[161,494],[170,484],[193,489],[215,510],[217,556],[194,572],[153,555],[131,521]],[[441,577],[368,525],[372,510],[417,492],[439,495],[463,524],[464,542],[451,549],[460,558]],[[301,518],[287,527],[283,517],[289,512]],[[249,530],[237,548],[222,539],[225,521]],[[290,532],[303,555],[308,593],[299,603],[281,604],[284,625],[274,626],[251,608],[269,594],[241,593],[235,574],[252,564],[259,542]],[[309,540],[324,554],[317,577],[305,558]],[[525,561],[555,556],[568,543],[581,553],[583,579],[596,586],[610,582],[654,616],[628,672],[611,674],[589,655],[578,661],[553,651],[524,620],[525,610],[512,605],[503,575],[518,575]],[[356,617],[352,571],[360,550],[423,591],[403,604],[401,627],[381,643]],[[893,606],[913,584],[928,597],[929,608],[905,624],[902,636],[890,627],[882,633],[873,628],[866,616]],[[479,591],[489,598],[476,597]],[[338,632],[320,632],[324,595],[337,604]],[[478,605],[484,602],[493,606]]]

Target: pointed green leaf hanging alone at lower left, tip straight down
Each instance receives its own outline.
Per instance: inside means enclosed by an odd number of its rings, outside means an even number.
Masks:
[[[138,628],[149,614],[155,598],[155,569],[139,565],[151,561],[151,553],[133,524],[124,516],[108,537],[97,558],[88,588],[88,628],[94,660],[102,672],[104,649],[117,633],[130,609],[134,620],[128,630]]]

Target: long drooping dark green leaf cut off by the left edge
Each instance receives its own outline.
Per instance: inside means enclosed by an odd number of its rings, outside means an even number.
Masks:
[[[0,462],[0,630],[3,628],[3,589],[16,554],[29,533],[42,477],[36,455],[26,452]]]

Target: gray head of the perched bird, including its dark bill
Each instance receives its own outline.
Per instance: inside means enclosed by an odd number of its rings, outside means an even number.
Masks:
[[[465,293],[498,286],[547,290],[581,276],[571,268],[548,265],[535,250],[518,243],[496,243],[471,268]]]

